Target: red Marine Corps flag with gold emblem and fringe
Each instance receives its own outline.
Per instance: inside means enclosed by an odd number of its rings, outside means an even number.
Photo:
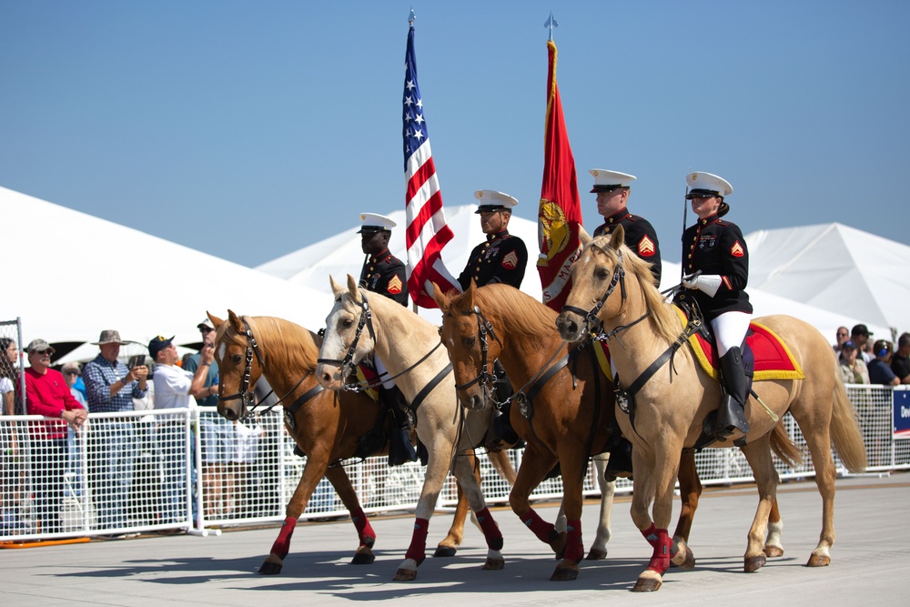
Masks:
[[[547,42],[550,71],[547,76],[543,185],[541,206],[537,214],[538,240],[541,245],[537,271],[541,275],[543,303],[559,311],[571,289],[571,265],[581,250],[578,239],[581,202],[575,177],[575,159],[571,155],[569,136],[562,119],[560,89],[556,86],[556,45],[552,40],[552,27],[555,25],[556,22],[550,15],[550,20],[545,25],[551,28],[551,38]]]

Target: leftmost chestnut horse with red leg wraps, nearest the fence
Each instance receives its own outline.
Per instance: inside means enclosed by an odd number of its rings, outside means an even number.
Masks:
[[[227,322],[208,315],[217,328],[218,413],[227,420],[238,420],[246,415],[253,405],[252,387],[264,375],[281,398],[286,419],[293,420],[288,431],[307,454],[297,490],[288,503],[284,525],[259,572],[281,572],[298,518],[306,510],[309,498],[323,476],[338,491],[357,528],[360,544],[351,562],[373,562],[376,533],[360,508],[344,467],[329,467],[329,464],[354,456],[359,438],[375,427],[379,406],[362,392],[322,389],[314,375],[321,344],[321,338],[315,333],[284,319],[238,317],[230,310],[227,315]],[[507,457],[494,456],[490,460],[503,476],[514,480],[515,472]],[[437,556],[455,554],[461,543],[468,506],[467,501],[459,497],[452,527],[440,542]]]

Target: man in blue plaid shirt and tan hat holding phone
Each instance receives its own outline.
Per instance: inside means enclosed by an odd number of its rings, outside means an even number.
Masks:
[[[120,347],[130,343],[114,329],[101,331],[92,342],[100,350],[82,369],[89,413],[126,413],[133,399],[146,396],[148,368],[132,369],[119,359]],[[88,483],[92,489],[98,529],[127,526],[129,487],[136,470],[138,444],[135,418],[91,420],[88,430]]]

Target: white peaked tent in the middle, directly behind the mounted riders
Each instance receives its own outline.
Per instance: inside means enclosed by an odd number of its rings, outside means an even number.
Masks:
[[[467,264],[471,249],[483,239],[483,234],[480,231],[480,220],[474,215],[476,209],[477,207],[473,205],[446,207],[446,218],[450,228],[455,233],[455,238],[442,250],[442,258],[446,263],[446,267],[449,268],[455,277],[458,277],[461,269]],[[389,239],[389,250],[397,258],[403,260],[406,251],[403,229],[406,224],[405,212],[403,209],[393,211],[388,216],[398,224],[398,227],[392,230],[392,236]],[[349,228],[316,244],[300,248],[293,253],[288,253],[288,255],[269,261],[258,266],[257,269],[280,278],[286,278],[298,285],[328,293],[330,290],[329,274],[336,279],[342,279],[346,274],[351,274],[354,278],[358,278],[360,275],[364,256],[360,249],[358,229],[356,226]],[[538,277],[536,265],[538,251],[537,224],[513,215],[509,222],[509,231],[523,239],[528,247],[528,267],[521,284],[521,290],[533,298],[540,299],[541,280]],[[755,263],[754,255],[750,259],[752,263]],[[680,265],[664,260],[662,277],[662,288],[664,289],[679,283]],[[756,316],[788,314],[804,319],[822,331],[825,338],[830,339],[832,342],[834,342],[834,333],[837,327],[841,325],[852,327],[854,324],[862,322],[849,314],[838,314],[772,293],[763,292],[762,289],[753,287],[751,279],[748,291]],[[420,309],[420,315],[434,322],[438,322],[440,318],[437,310]],[[868,324],[870,329],[876,333],[878,330],[884,330],[871,321]]]

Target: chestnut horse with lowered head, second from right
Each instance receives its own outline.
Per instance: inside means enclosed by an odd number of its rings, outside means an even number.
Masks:
[[[490,369],[496,359],[520,390],[521,396],[511,407],[511,422],[528,446],[509,501],[521,521],[541,541],[550,543],[557,554],[563,555],[551,580],[574,580],[583,553],[581,476],[587,458],[606,449],[608,429],[615,420],[612,380],[603,375],[595,356],[594,348],[600,346],[581,345],[588,342],[568,344],[554,328],[555,311],[506,285],[475,288],[471,283],[463,294],[449,295],[436,288],[434,298],[442,311],[440,335],[449,349],[455,379],[460,382],[457,389],[462,403],[469,409],[491,406]],[[773,439],[773,449],[782,458],[799,457],[783,427],[775,429]],[[565,491],[562,505],[568,537],[565,534],[556,537],[553,525],[541,521],[528,500],[533,488],[557,461]],[[602,481],[603,470],[598,473],[598,481]],[[614,485],[614,482],[602,483],[601,521],[589,560],[606,557]],[[691,450],[682,454],[680,490],[682,512],[674,537],[685,545],[702,492]],[[778,533],[772,534],[765,550],[769,554],[783,554],[779,544],[779,514],[775,520]],[[683,569],[693,567],[691,551],[675,556],[673,561]]]

